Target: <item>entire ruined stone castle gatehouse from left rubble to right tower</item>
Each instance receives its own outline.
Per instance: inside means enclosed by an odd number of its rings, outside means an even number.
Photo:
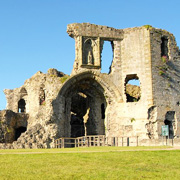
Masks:
[[[67,32],[75,40],[70,76],[49,69],[4,91],[1,148],[50,148],[56,138],[85,134],[159,139],[164,124],[170,138],[180,136],[180,51],[172,34],[89,23],[70,24]],[[108,74],[101,73],[105,41],[113,51]]]

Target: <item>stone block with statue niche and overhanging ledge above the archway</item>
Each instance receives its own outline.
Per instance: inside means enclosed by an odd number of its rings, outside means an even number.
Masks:
[[[100,71],[104,41],[121,41],[123,38],[122,30],[89,23],[70,24],[67,32],[75,39],[76,57],[72,74],[84,69]]]

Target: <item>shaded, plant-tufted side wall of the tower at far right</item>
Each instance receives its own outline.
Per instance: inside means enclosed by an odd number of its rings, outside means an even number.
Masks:
[[[175,113],[172,122],[174,136],[179,136],[180,56],[174,36],[161,29],[150,29],[152,56],[153,101],[157,107],[158,135],[167,113]],[[167,40],[167,53],[162,55],[162,41]]]

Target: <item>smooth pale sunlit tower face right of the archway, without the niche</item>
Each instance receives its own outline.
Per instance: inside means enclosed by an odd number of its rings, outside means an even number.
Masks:
[[[114,84],[119,88],[123,102],[117,105],[116,124],[119,132],[116,136],[143,136],[147,138],[148,109],[152,102],[152,74],[150,57],[149,31],[144,27],[124,29],[124,38],[119,43],[118,57],[113,62],[112,76]],[[137,79],[140,83],[140,99],[128,102],[125,84],[128,80]],[[117,128],[118,128],[117,127]]]

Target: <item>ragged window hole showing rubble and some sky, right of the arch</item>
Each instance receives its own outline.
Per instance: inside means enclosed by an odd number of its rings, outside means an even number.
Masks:
[[[137,102],[141,98],[140,81],[137,74],[130,74],[125,79],[126,102]]]

